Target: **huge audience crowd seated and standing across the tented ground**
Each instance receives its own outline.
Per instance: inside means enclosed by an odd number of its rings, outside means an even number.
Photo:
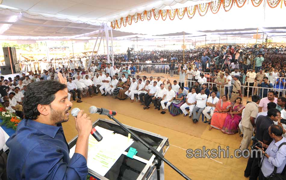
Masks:
[[[68,79],[69,100],[72,97],[78,103],[82,102],[82,97],[101,93],[101,96],[119,100],[130,98],[134,104],[138,101],[143,110],[154,108],[161,114],[169,111],[172,116],[189,117],[194,124],[202,118],[204,123],[210,124],[209,130],[215,128],[225,134],[240,130],[242,151],[249,148],[255,133],[252,148],[260,142],[262,147],[257,148],[262,150],[264,158],[249,158],[244,176],[265,179],[274,166],[277,173],[281,173],[286,164],[286,146],[278,149],[286,142],[286,125],[283,124],[286,119],[286,63],[281,57],[264,57],[267,53],[281,54],[284,50],[266,49],[261,45],[200,48],[185,52],[185,64],[181,62],[181,51],[144,51],[134,54],[134,59],[130,53],[115,55],[119,64],[114,66],[106,63],[106,56],[99,55],[88,68],[84,62],[89,58],[84,57],[84,61],[81,58],[76,63],[69,60],[67,66],[61,64],[59,68],[29,71],[14,79],[1,76],[0,101],[7,110],[23,117],[22,100],[29,84],[57,80],[61,73]],[[217,62],[220,60],[222,64]],[[137,64],[141,62],[146,64]],[[148,73],[152,63],[161,63],[156,64],[155,69],[165,69],[163,72],[169,73],[171,78],[176,74],[179,78],[161,79],[137,73],[138,69]],[[252,101],[244,104],[243,96],[251,96]],[[275,151],[270,151],[269,146]],[[261,168],[258,161],[262,163]]]

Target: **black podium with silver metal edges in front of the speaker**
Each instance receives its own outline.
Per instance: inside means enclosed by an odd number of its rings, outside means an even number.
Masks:
[[[121,134],[123,136],[128,137],[128,133],[117,125],[116,122],[108,120],[108,119],[98,119],[93,123],[93,127],[99,126],[101,128],[105,128],[110,131],[114,131],[114,133]],[[133,128],[127,126],[132,132],[134,132],[137,136],[143,139],[146,143],[151,145],[154,149],[164,155],[166,151],[169,149],[169,140],[167,137],[160,136],[158,134],[154,134],[148,131],[144,131],[138,128]],[[137,141],[135,138],[131,136],[133,139],[133,143],[130,147],[135,148],[138,153],[136,157],[133,159],[128,158],[126,156],[129,148],[125,150],[125,152],[120,156],[120,158],[116,161],[115,164],[110,168],[110,170],[105,174],[105,176],[101,176],[93,170],[89,169],[89,174],[96,179],[99,180],[145,180],[150,179],[151,175],[156,170],[154,164],[155,155],[153,155],[150,150],[148,150],[142,143]],[[77,136],[70,140],[69,147],[70,149],[76,145]],[[89,152],[91,153],[91,152]],[[162,171],[163,172],[163,171]],[[162,172],[160,174],[162,174]],[[156,177],[156,176],[155,176]]]

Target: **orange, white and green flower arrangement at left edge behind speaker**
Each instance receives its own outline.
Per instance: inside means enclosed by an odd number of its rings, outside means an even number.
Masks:
[[[1,125],[5,125],[7,128],[17,129],[21,118],[16,116],[9,110],[6,110],[5,107],[0,106],[0,119],[2,119]]]

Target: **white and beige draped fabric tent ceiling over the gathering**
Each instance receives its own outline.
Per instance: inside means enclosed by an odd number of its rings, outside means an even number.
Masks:
[[[219,1],[219,0],[216,0]],[[230,0],[234,2],[235,0]],[[263,1],[266,3],[269,0]],[[280,0],[280,4],[285,0]],[[137,0],[133,1],[92,1],[92,0],[3,0],[0,5],[0,39],[5,40],[93,40],[96,39],[102,23],[142,12],[152,8],[181,8],[193,6],[209,0]],[[241,2],[241,1],[239,1]],[[286,21],[275,18],[284,13],[285,6],[270,8],[267,3],[253,7],[251,0],[240,9],[233,6],[231,10],[218,13],[198,14],[192,19],[185,16],[172,21],[150,19],[138,21],[131,26],[113,30],[113,38],[121,39],[161,39],[200,37],[213,35],[240,36],[251,38],[258,33],[268,36],[286,36]],[[170,6],[169,6],[170,5]],[[85,9],[86,6],[90,6]],[[92,7],[92,8],[91,8]],[[1,9],[9,8],[9,9]],[[75,9],[76,8],[76,9]],[[222,8],[222,7],[221,7]],[[99,10],[98,10],[99,9]],[[109,10],[114,11],[109,11]],[[241,13],[243,10],[244,13]],[[98,11],[97,15],[95,11]],[[210,11],[210,10],[209,10]],[[246,12],[246,13],[245,13]],[[255,16],[253,16],[255,14]],[[258,16],[256,16],[258,15]],[[265,17],[264,17],[265,16]],[[251,18],[253,17],[253,20]],[[3,24],[1,22],[9,22]],[[34,25],[34,26],[32,26]],[[110,25],[110,23],[108,23]],[[110,32],[109,32],[110,36]],[[104,34],[105,37],[105,34]]]

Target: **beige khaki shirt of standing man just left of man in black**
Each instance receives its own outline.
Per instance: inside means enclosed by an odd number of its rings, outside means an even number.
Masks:
[[[256,104],[255,102],[250,102],[246,104],[244,116],[241,119],[241,125],[243,125],[246,128],[252,129],[253,126],[250,122],[250,117],[256,118],[257,113],[258,113],[258,104]]]

